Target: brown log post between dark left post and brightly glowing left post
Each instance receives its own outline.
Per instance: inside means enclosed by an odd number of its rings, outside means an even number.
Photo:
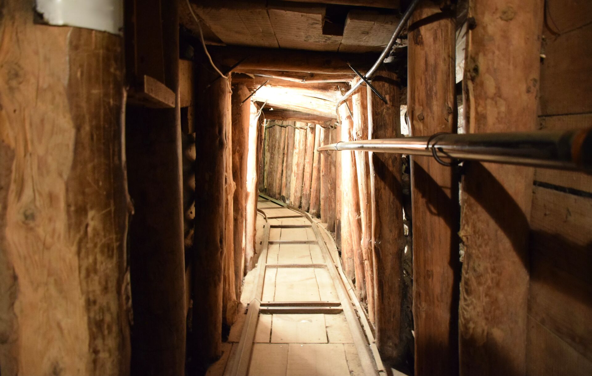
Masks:
[[[232,93],[232,176],[234,191],[234,283],[236,298],[240,299],[244,271],[244,234],[247,200],[247,158],[249,156],[249,121],[251,102],[241,104],[249,96],[249,89],[239,84]]]

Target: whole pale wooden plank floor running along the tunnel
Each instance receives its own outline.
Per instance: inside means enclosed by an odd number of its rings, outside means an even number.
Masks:
[[[208,375],[368,374],[364,372],[343,313],[336,282],[327,269],[328,263],[333,261],[325,258],[318,244],[323,239],[317,239],[313,224],[297,211],[261,199],[258,208],[268,216],[268,226],[271,225],[268,241],[272,243],[263,241],[265,260],[259,259],[258,268],[253,270],[259,271],[263,279],[262,291],[253,291],[256,288],[245,291],[263,302],[264,307],[258,308],[256,318],[253,317],[256,324],[254,334],[251,332],[252,343],[234,344],[228,354],[208,370]],[[280,215],[294,217],[269,218]],[[298,226],[291,227],[294,225]],[[287,243],[273,243],[279,240]],[[290,243],[304,240],[316,243]],[[275,307],[274,313],[267,313],[269,307]],[[277,313],[278,310],[281,313]],[[242,339],[247,331],[242,330]],[[231,334],[233,332],[236,338],[234,326]],[[240,350],[235,350],[239,347],[250,352],[246,357],[248,364],[243,361],[239,365]]]

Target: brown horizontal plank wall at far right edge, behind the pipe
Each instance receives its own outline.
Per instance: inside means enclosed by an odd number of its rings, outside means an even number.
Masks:
[[[546,3],[539,126],[592,124],[592,3]],[[592,176],[535,169],[526,371],[592,374]]]

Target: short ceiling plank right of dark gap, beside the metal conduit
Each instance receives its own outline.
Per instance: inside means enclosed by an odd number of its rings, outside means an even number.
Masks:
[[[352,9],[345,19],[339,52],[379,52],[397,28],[399,18],[373,10]]]

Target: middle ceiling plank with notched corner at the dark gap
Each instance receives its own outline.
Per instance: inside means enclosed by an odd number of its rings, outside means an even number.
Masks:
[[[270,3],[269,21],[281,49],[337,52],[342,37],[323,35],[324,5],[282,1]]]

